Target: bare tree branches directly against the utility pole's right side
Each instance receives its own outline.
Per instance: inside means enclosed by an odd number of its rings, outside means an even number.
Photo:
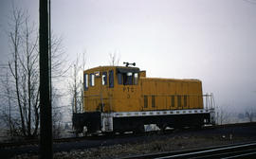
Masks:
[[[65,97],[65,91],[62,84],[67,76],[70,67],[66,67],[66,59],[64,56],[63,39],[51,34],[51,105],[52,105],[52,133],[53,138],[59,138],[63,133],[63,113],[68,111],[67,106],[61,105],[62,99]]]

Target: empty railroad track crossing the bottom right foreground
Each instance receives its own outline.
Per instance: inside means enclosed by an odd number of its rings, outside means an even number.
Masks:
[[[232,144],[199,150],[182,150],[155,154],[137,155],[122,159],[238,159],[256,158],[256,142]]]

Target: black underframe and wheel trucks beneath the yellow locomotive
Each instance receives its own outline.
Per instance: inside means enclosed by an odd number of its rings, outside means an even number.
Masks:
[[[87,132],[101,131],[102,121],[100,112],[73,114],[72,119],[76,132],[82,132],[84,126],[87,128]],[[210,124],[210,113],[113,117],[113,132],[143,132],[144,125],[147,124],[156,124],[162,130],[166,127],[200,128],[204,124]]]

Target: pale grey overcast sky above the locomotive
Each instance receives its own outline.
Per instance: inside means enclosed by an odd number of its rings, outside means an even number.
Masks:
[[[38,22],[38,1],[14,0]],[[11,1],[0,2],[0,62],[9,55]],[[201,79],[204,93],[231,110],[256,107],[256,1],[52,0],[52,29],[86,68],[109,53],[137,62],[148,77]]]

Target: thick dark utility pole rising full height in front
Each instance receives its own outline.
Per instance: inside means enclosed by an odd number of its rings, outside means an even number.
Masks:
[[[39,3],[40,158],[52,159],[52,116],[49,89],[48,0]]]

